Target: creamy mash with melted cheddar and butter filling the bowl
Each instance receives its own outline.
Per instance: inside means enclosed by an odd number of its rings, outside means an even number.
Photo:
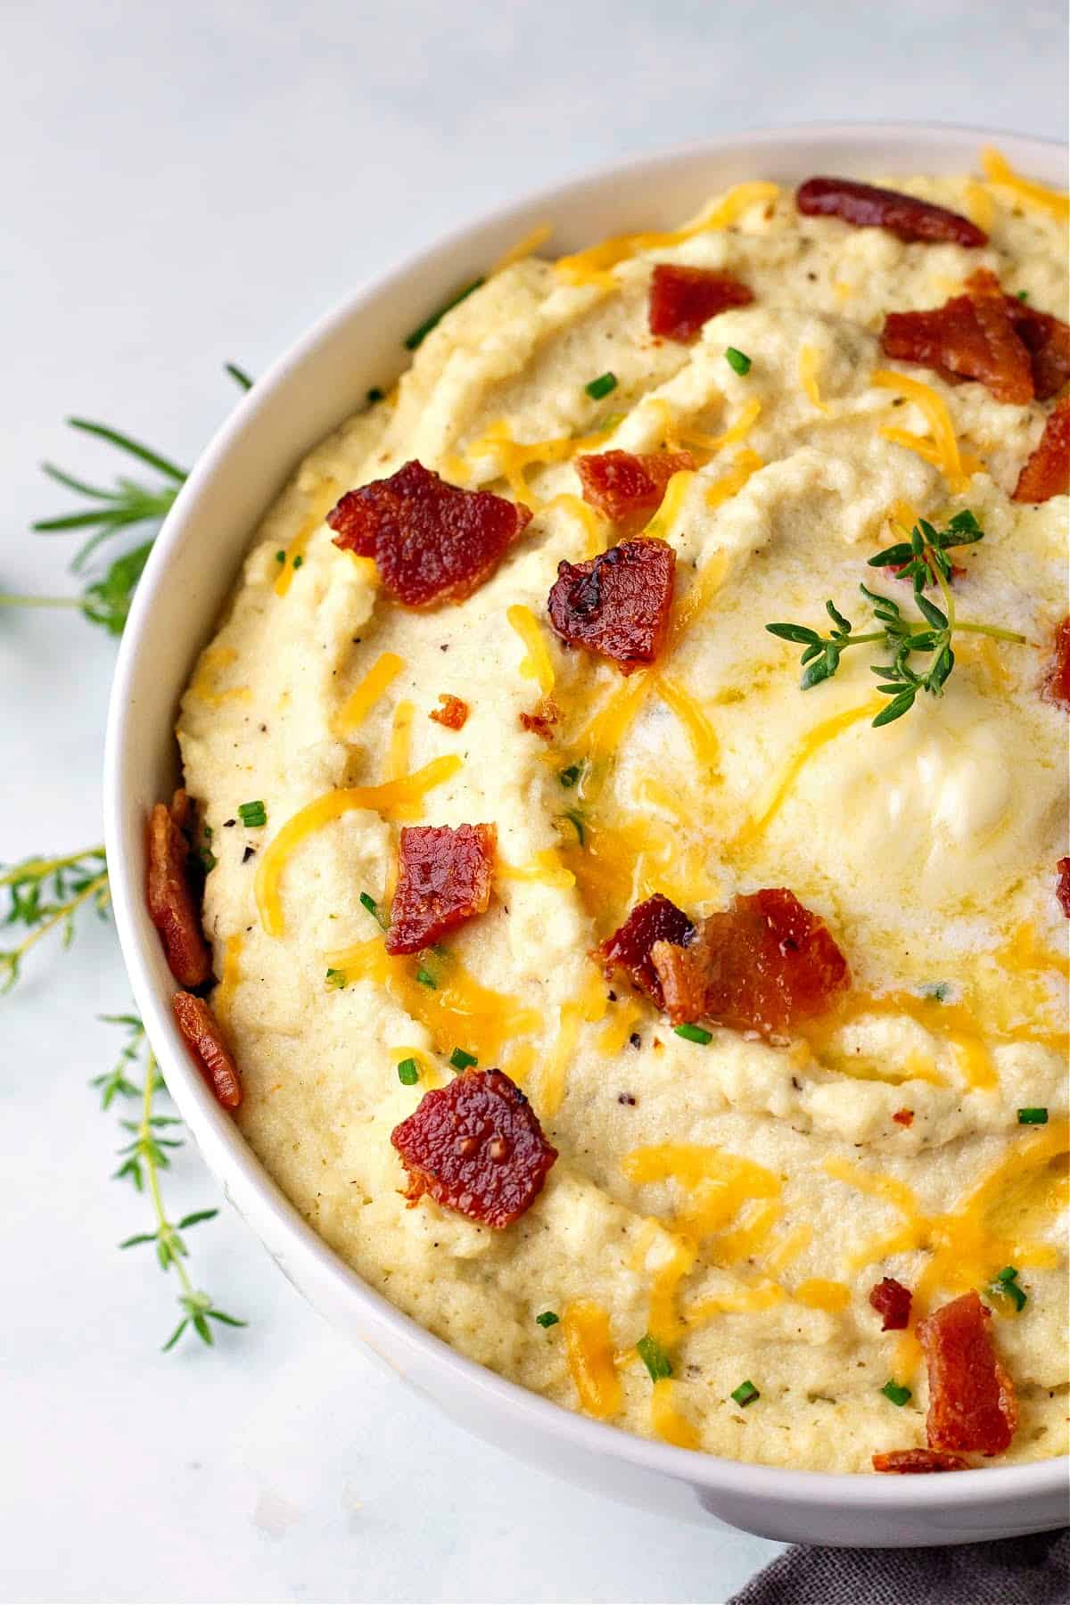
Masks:
[[[610,266],[529,257],[492,274],[268,514],[178,732],[218,860],[204,923],[241,1125],[316,1231],[430,1331],[560,1404],[820,1470],[924,1443],[924,1366],[910,1334],[881,1334],[873,1284],[895,1276],[924,1310],[1007,1263],[1027,1305],[991,1323],[1022,1414],[1003,1459],[1065,1448],[1065,713],[1040,687],[1067,613],[1067,499],[1009,496],[1046,408],[879,348],[887,311],[942,305],[977,266],[1065,316],[1062,236],[1007,191],[895,186],[983,202],[990,244],[902,244],[749,186],[712,226]],[[693,345],[655,340],[656,262],[728,270],[754,303]],[[608,371],[616,388],[592,400]],[[958,464],[934,448],[929,398]],[[666,445],[696,459],[648,531],[677,552],[672,644],[624,679],[563,648],[545,599],[561,559],[613,538],[574,456]],[[324,523],[414,457],[536,509],[489,583],[422,613],[383,599]],[[956,554],[959,613],[1028,645],[963,636],[943,698],[886,729],[869,724],[879,647],[802,693],[797,648],[764,624],[825,629],[831,597],[863,628],[860,579],[910,612],[910,587],[866,559],[902,539],[897,520],[943,526],[964,507],[985,538]],[[443,693],[470,706],[464,729],[428,717]],[[544,695],[552,743],[520,719]],[[407,783],[443,756],[459,762],[438,783]],[[338,788],[369,788],[367,806],[326,802],[270,854]],[[249,799],[265,827],[244,827]],[[489,912],[424,979],[385,957],[361,904],[388,904],[414,820],[492,822],[499,841]],[[852,969],[847,1006],[788,1045],[717,1027],[688,1042],[587,957],[655,891],[695,916],[762,886],[817,910]],[[560,1151],[507,1231],[401,1196],[390,1132],[446,1083],[454,1048],[512,1075]],[[407,1058],[417,1085],[399,1082]],[[1020,1125],[1022,1107],[1048,1124]],[[646,1332],[669,1380],[635,1351]],[[760,1395],[746,1408],[743,1380]]]

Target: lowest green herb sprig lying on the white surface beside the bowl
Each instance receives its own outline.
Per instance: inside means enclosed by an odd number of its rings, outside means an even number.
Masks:
[[[202,1289],[194,1287],[189,1271],[183,1263],[189,1257],[189,1249],[181,1236],[193,1226],[201,1226],[207,1220],[215,1220],[218,1209],[201,1209],[183,1215],[180,1221],[172,1221],[164,1209],[160,1188],[160,1172],[170,1170],[170,1152],[183,1146],[183,1140],[175,1136],[175,1127],[181,1127],[178,1115],[157,1114],[156,1096],[164,1091],[164,1079],[159,1074],[156,1056],[148,1046],[144,1026],[136,1014],[104,1014],[112,1024],[127,1027],[127,1042],[120,1051],[119,1064],[109,1075],[93,1079],[93,1087],[101,1088],[101,1107],[107,1109],[112,1098],[140,1098],[141,1114],[138,1120],[122,1120],[120,1125],[133,1133],[132,1140],[119,1151],[122,1165],[116,1178],[127,1180],[138,1193],[143,1193],[152,1205],[156,1221],[152,1231],[136,1231],[119,1244],[120,1249],[136,1249],[143,1244],[156,1245],[156,1260],[162,1271],[175,1271],[180,1284],[178,1306],[183,1318],[164,1343],[164,1353],[175,1348],[186,1331],[193,1331],[209,1348],[213,1343],[209,1321],[221,1326],[245,1326],[237,1316],[218,1310],[215,1300]],[[135,1087],[127,1077],[127,1067],[144,1054],[144,1074],[141,1087]],[[170,1135],[165,1135],[170,1133]]]

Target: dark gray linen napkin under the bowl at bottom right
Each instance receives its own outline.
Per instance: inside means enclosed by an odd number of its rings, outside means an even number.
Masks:
[[[1067,1605],[1070,1530],[946,1549],[796,1546],[728,1605]]]

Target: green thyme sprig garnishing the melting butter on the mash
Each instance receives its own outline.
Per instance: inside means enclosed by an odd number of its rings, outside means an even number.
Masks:
[[[892,653],[892,661],[871,664],[871,672],[877,676],[877,692],[890,697],[890,701],[873,719],[876,729],[910,713],[921,692],[930,697],[943,693],[954,668],[951,640],[956,631],[990,636],[995,640],[1025,642],[1025,636],[1019,636],[1017,631],[956,616],[951,591],[953,565],[946,554],[956,546],[972,546],[983,539],[983,534],[985,531],[969,509],[956,514],[948,522],[946,530],[935,530],[927,520],[919,518],[908,541],[889,546],[869,559],[871,568],[895,568],[900,578],[911,579],[921,618],[905,618],[898,602],[860,584],[858,589],[871,603],[879,629],[855,634],[850,620],[831,600],[825,603],[833,621],[828,636],[821,636],[807,624],[767,624],[765,629],[770,636],[802,647],[800,689],[805,692],[820,685],[821,681],[829,681],[839,669],[849,647],[882,642]],[[926,586],[934,578],[940,587],[943,607],[924,594]],[[918,661],[911,663],[911,658]]]

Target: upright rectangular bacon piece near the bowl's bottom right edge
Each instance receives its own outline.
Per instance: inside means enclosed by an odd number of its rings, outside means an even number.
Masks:
[[[1001,1454],[1019,1424],[1014,1384],[988,1337],[991,1311],[977,1292],[963,1294],[918,1323],[929,1367],[930,1449]]]

